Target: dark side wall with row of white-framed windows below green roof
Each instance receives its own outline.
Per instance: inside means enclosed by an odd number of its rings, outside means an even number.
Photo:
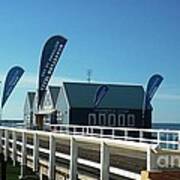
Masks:
[[[143,123],[141,110],[76,108],[70,111],[70,124],[78,125],[150,128],[150,111],[146,118]]]

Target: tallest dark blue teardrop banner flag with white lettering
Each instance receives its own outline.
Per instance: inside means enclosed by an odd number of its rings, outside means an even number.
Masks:
[[[51,37],[44,45],[39,68],[38,108],[66,42],[66,38],[57,35]]]

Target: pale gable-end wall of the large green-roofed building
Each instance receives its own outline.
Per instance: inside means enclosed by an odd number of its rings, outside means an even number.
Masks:
[[[69,123],[69,107],[66,102],[66,97],[63,89],[60,90],[57,104],[57,123],[58,124],[68,124]]]

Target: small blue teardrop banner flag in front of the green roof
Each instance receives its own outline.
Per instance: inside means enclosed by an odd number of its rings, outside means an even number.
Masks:
[[[94,96],[94,107],[96,108],[101,103],[104,96],[107,94],[109,88],[107,85],[101,85],[97,88],[96,94]]]

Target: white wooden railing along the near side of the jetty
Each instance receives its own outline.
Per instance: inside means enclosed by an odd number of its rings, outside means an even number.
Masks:
[[[61,126],[62,127],[62,126]],[[67,127],[67,126],[65,126]],[[87,133],[85,127],[72,126],[73,129],[83,128],[81,133]],[[70,127],[69,127],[70,128]],[[102,128],[103,129],[103,128]],[[88,133],[91,134],[90,129],[88,129]],[[91,129],[94,130],[94,129]],[[103,129],[104,130],[104,129]],[[66,133],[70,130],[66,131]],[[115,132],[114,132],[115,133]],[[79,136],[77,134],[78,131],[72,132],[74,135],[67,135],[62,133],[52,133],[52,132],[44,132],[44,131],[34,131],[34,130],[26,130],[26,129],[17,129],[17,128],[7,128],[0,127],[0,152],[3,151],[5,160],[7,161],[9,157],[12,158],[13,164],[15,165],[17,161],[21,162],[21,175],[23,176],[23,167],[27,165],[27,160],[31,159],[33,164],[33,171],[37,172],[40,166],[40,153],[48,155],[47,158],[47,167],[48,167],[48,179],[54,180],[55,178],[55,168],[56,168],[56,160],[57,158],[65,159],[70,162],[69,166],[69,179],[74,180],[77,178],[78,164],[83,165],[88,168],[95,168],[99,170],[100,180],[108,180],[110,177],[110,173],[122,177],[128,177],[130,179],[140,179],[140,172],[131,172],[126,169],[120,169],[118,167],[110,166],[110,154],[111,148],[120,148],[124,150],[131,150],[135,153],[144,153],[146,157],[144,160],[146,162],[146,167],[151,167],[151,155],[148,153],[157,148],[155,145],[145,144],[145,143],[137,143],[131,141],[122,141],[116,139],[109,138],[96,138],[96,137],[87,137],[87,136]],[[75,135],[76,134],[76,135]],[[103,134],[101,134],[104,137]],[[98,136],[99,137],[99,136]],[[127,137],[128,138],[128,137]],[[31,143],[29,140],[31,139]],[[40,141],[42,140],[48,143],[48,147],[42,147]],[[56,148],[57,143],[61,143],[63,140],[67,141],[70,146],[70,153],[62,153],[59,152]],[[32,143],[33,142],[33,143]],[[94,162],[89,159],[82,159],[78,157],[78,147],[85,146],[87,148],[87,143],[98,145],[98,152],[100,153],[100,161]],[[84,145],[83,145],[84,144]],[[20,147],[20,148],[19,148]],[[33,151],[32,155],[28,154],[28,149]],[[89,147],[89,150],[91,147]],[[90,150],[91,151],[91,150]],[[119,150],[120,151],[120,150]],[[118,151],[118,152],[119,152]],[[125,151],[126,152],[126,151]],[[28,158],[31,156],[31,158]],[[127,154],[129,156],[129,154]],[[20,158],[18,158],[20,157]],[[142,157],[140,157],[142,158]],[[117,159],[118,161],[118,159]],[[79,175],[79,174],[78,174]]]

